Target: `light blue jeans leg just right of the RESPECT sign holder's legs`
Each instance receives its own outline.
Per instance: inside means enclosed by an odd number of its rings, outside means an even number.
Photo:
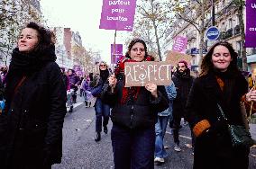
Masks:
[[[167,157],[167,153],[163,146],[163,138],[165,136],[168,120],[169,120],[169,116],[158,116],[158,122],[155,124],[155,132],[156,132],[155,156],[160,158]]]

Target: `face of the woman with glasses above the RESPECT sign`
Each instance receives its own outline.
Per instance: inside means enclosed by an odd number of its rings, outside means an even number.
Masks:
[[[140,42],[135,43],[129,52],[130,57],[138,62],[141,62],[145,58],[145,54],[144,45]]]

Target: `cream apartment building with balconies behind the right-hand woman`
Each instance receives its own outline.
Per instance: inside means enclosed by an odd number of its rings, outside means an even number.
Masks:
[[[220,36],[218,40],[227,40],[233,45],[233,48],[239,55],[238,66],[242,68],[242,37],[241,30],[239,26],[238,10],[233,5],[233,0],[207,0],[204,1],[205,8],[205,30],[213,25],[213,5],[215,11],[215,26],[220,31]],[[171,49],[173,43],[172,40],[176,36],[187,37],[187,50],[186,53],[192,56],[191,68],[192,70],[197,70],[200,57],[199,57],[199,40],[201,35],[199,33],[201,25],[201,9],[200,5],[196,1],[190,1],[187,4],[187,8],[181,16],[186,16],[189,22],[177,16],[176,22],[173,23],[171,31],[166,35],[165,50]],[[245,9],[243,9],[243,22],[245,24]],[[196,28],[197,27],[197,28]],[[207,49],[215,41],[206,40],[206,34],[204,33],[204,46],[203,54],[206,53]],[[165,52],[167,53],[167,52]],[[254,72],[256,75],[256,48],[246,49],[247,63],[249,66],[249,71]]]

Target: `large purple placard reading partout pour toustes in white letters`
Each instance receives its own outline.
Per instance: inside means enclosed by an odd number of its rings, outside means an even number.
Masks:
[[[103,0],[99,29],[133,31],[136,0]]]

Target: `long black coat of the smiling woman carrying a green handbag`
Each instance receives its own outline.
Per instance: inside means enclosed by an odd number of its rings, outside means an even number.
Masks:
[[[187,99],[187,121],[193,129],[197,122],[208,120],[211,128],[196,138],[194,168],[247,168],[249,148],[233,148],[227,125],[217,108],[219,103],[231,124],[242,125],[240,99],[247,92],[242,75],[231,77],[233,84],[225,83],[230,90],[226,97],[213,73],[197,77]],[[219,119],[219,120],[218,120]]]

